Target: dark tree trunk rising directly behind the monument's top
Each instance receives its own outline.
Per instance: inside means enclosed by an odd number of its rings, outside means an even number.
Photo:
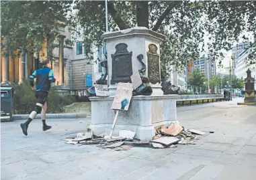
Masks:
[[[136,2],[136,17],[139,27],[148,28],[148,1],[135,1]]]

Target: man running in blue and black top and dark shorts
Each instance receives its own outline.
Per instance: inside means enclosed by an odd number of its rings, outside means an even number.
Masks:
[[[41,118],[42,118],[42,130],[48,130],[52,128],[52,126],[46,125],[46,110],[47,110],[47,104],[46,99],[48,96],[48,92],[50,90],[50,84],[51,82],[55,82],[55,78],[53,76],[53,71],[51,70],[51,63],[50,60],[44,60],[41,62],[42,68],[39,70],[36,70],[31,76],[30,76],[30,86],[32,86],[32,90],[36,90],[36,106],[34,110],[30,113],[30,116],[28,120],[20,126],[22,127],[23,133],[28,136],[28,125],[30,122],[36,118],[36,115],[41,112]],[[36,78],[36,88],[34,87],[34,78]]]

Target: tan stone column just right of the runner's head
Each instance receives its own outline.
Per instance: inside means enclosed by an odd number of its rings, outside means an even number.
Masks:
[[[58,46],[58,84],[60,86],[64,85],[64,38],[64,35],[60,35]]]

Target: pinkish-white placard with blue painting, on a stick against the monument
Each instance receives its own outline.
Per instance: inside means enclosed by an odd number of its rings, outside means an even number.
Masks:
[[[132,99],[132,91],[133,87],[131,83],[119,82],[111,108],[116,110],[128,110],[130,100]]]

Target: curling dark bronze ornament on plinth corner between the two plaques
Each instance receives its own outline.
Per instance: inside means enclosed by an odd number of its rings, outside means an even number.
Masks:
[[[138,70],[138,72],[140,73],[140,78],[142,80],[142,84],[136,88],[136,90],[134,90],[134,92],[132,93],[133,96],[138,96],[138,95],[151,95],[153,90],[151,88],[151,86],[149,85],[150,81],[148,79],[147,76],[144,75],[144,73],[146,72],[146,64],[144,64],[144,62],[142,62],[143,59],[143,55],[139,54],[137,56],[138,61],[142,64],[142,68],[140,70]]]

